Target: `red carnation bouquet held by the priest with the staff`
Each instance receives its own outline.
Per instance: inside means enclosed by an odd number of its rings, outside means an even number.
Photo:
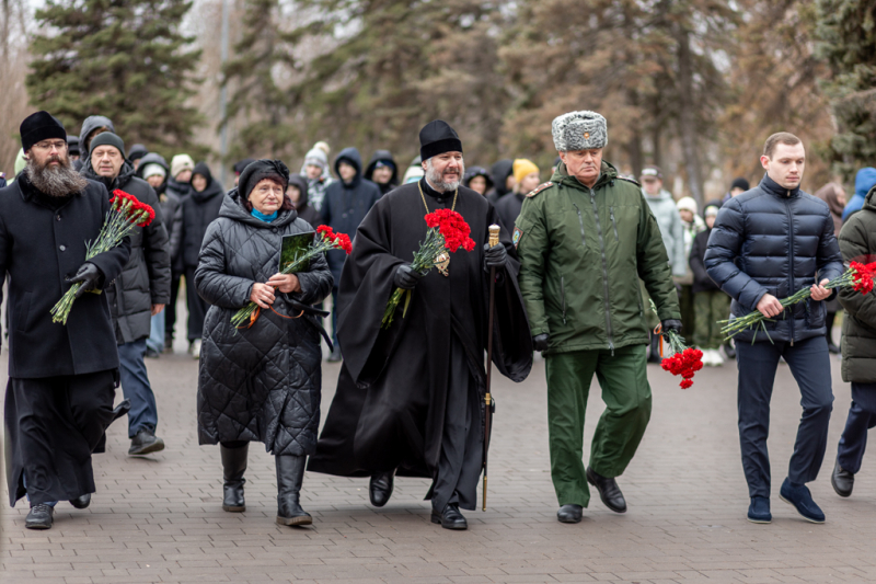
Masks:
[[[474,249],[474,240],[469,237],[472,230],[462,218],[462,215],[451,209],[438,209],[426,215],[426,226],[429,228],[426,231],[426,240],[419,244],[419,250],[414,254],[411,267],[426,275],[433,267],[438,266],[441,274],[446,276],[448,275],[447,266],[450,263],[449,253],[453,253],[460,248],[465,251]],[[390,301],[387,304],[387,309],[383,311],[383,329],[389,329],[392,324],[395,310],[402,302],[403,297],[405,302],[402,318],[407,313],[407,307],[411,304],[411,290],[395,288]]]

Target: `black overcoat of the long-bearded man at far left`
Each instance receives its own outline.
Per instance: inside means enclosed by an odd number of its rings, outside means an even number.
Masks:
[[[41,378],[118,368],[105,294],[73,302],[67,325],[49,311],[85,263],[85,243],[97,239],[110,213],[106,187],[89,181],[60,208],[41,202],[22,173],[0,190],[0,278],[9,275],[9,376]],[[110,283],[128,262],[130,241],[89,260]]]

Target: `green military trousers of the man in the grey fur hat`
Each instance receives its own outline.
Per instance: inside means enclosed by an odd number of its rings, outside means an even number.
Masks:
[[[606,411],[590,447],[590,467],[602,477],[619,477],[642,442],[650,419],[650,386],[644,345],[576,351],[545,357],[551,479],[560,505],[590,502],[585,477],[584,415],[596,374]]]

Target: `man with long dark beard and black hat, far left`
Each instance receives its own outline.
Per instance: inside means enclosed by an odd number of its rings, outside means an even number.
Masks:
[[[5,394],[9,503],[27,495],[28,529],[48,529],[55,504],[85,508],[94,492],[91,455],[130,403],[115,411],[118,352],[106,295],[130,255],[117,248],[85,260],[110,213],[106,188],[79,175],[67,133],[47,112],[21,125],[27,167],[0,190],[0,279],[9,275],[10,353]],[[81,283],[66,325],[49,311]]]

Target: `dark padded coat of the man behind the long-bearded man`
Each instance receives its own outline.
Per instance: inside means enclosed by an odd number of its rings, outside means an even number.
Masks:
[[[134,175],[128,161],[110,184],[94,172],[91,159],[85,161],[82,175],[103,182],[110,191],[120,188],[155,211],[151,224],[134,228],[128,263],[106,286],[116,342],[120,345],[146,339],[152,331],[152,305],[166,305],[171,300],[170,244],[158,195],[149,183]]]

